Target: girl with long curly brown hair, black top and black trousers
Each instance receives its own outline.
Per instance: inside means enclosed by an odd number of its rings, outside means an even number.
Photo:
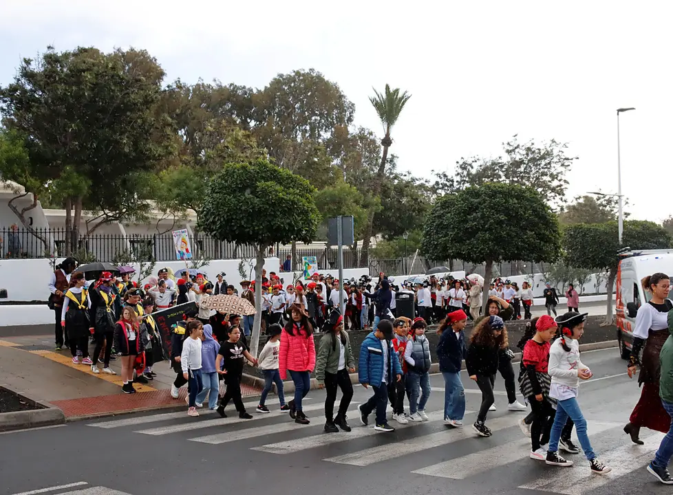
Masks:
[[[498,373],[498,356],[500,349],[507,346],[507,330],[500,316],[489,316],[479,322],[470,336],[470,347],[467,349],[465,365],[470,379],[477,382],[482,391],[482,405],[477,421],[472,425],[480,437],[490,437],[493,432],[484,424],[489,408],[495,402],[493,384],[495,373]]]

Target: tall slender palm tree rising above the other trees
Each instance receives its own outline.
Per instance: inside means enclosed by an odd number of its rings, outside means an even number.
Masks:
[[[402,109],[412,95],[407,93],[407,91],[400,91],[399,88],[390,89],[389,85],[385,85],[383,94],[376,91],[376,89],[374,89],[374,94],[376,96],[370,96],[370,102],[374,105],[374,109],[376,109],[376,113],[378,113],[378,118],[381,119],[383,131],[385,132],[385,135],[381,140],[381,146],[383,146],[381,164],[378,166],[376,176],[374,177],[374,183],[372,184],[372,196],[378,197],[378,195],[381,194],[381,184],[383,184],[383,177],[385,176],[385,164],[388,161],[388,148],[392,145],[390,130],[392,129],[392,126],[395,125],[398,118],[400,118]],[[372,209],[367,218],[367,228],[365,229],[365,238],[362,243],[361,264],[365,266],[369,259],[370,239],[372,238],[373,230],[374,210]]]

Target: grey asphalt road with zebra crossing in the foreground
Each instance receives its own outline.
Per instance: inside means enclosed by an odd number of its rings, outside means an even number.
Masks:
[[[589,351],[582,359],[594,377],[582,385],[579,401],[593,448],[613,468],[606,476],[591,474],[581,455],[570,456],[576,465],[566,469],[528,459],[529,440],[516,424],[522,413],[506,410],[500,377],[498,411],[487,421],[493,437],[478,438],[467,427],[450,430],[442,423],[443,380],[433,375],[426,408],[430,421],[394,433],[361,426],[352,404],[353,431],[324,434],[325,393],[312,391],[305,402],[309,426],[281,415],[271,396],[272,414],[259,415],[250,405],[251,420],[235,414],[216,419],[158,413],[0,434],[0,490],[24,495],[672,494],[672,487],[645,470],[663,434],[643,430],[645,445],[639,447],[621,430],[639,388],[625,375],[617,349]],[[467,408],[474,411],[480,394],[466,375]],[[369,396],[356,386],[354,402]],[[469,413],[465,422],[474,417]]]

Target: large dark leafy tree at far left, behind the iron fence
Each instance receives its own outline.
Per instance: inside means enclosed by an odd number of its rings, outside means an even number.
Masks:
[[[31,182],[49,184],[65,204],[71,252],[84,210],[99,213],[87,233],[147,214],[142,187],[170,151],[170,122],[157,111],[163,76],[144,51],[50,47],[37,61],[23,59],[0,89],[4,122],[25,136],[30,170],[40,170]]]

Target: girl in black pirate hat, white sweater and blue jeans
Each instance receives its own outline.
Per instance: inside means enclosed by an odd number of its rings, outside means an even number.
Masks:
[[[592,450],[586,434],[586,419],[577,403],[579,380],[588,380],[592,375],[588,367],[579,360],[579,343],[577,342],[584,333],[586,316],[586,313],[577,314],[575,312],[560,316],[559,320],[564,325],[562,336],[552,344],[549,352],[549,375],[551,376],[549,396],[557,400],[557,408],[554,426],[551,428],[546,463],[562,467],[573,465],[573,461],[566,461],[558,453],[561,430],[570,417],[575,423],[579,444],[589,461],[591,472],[606,474],[611,468],[601,463]]]

